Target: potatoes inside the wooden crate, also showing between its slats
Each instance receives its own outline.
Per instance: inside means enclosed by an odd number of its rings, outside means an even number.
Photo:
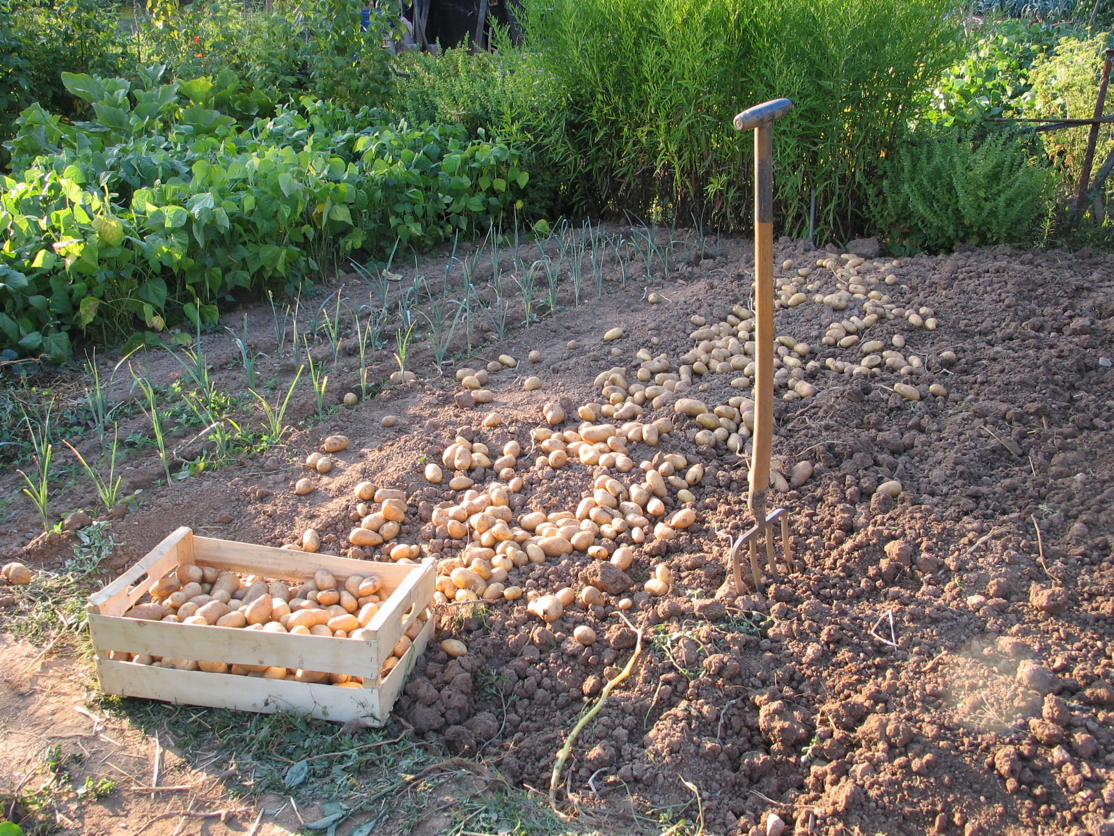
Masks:
[[[382,581],[374,574],[351,575],[339,582],[331,572],[319,570],[312,580],[287,585],[285,581],[266,581],[254,575],[242,579],[233,572],[218,572],[212,566],[188,565],[178,566],[174,574],[156,581],[148,591],[150,600],[136,604],[124,616],[265,633],[367,639],[370,638],[368,625],[379,612],[381,601],[378,593],[381,590]],[[423,612],[414,619],[383,664],[381,677],[398,664],[428,618],[428,613]],[[321,671],[160,659],[116,651],[109,658],[178,670],[363,687],[359,677]]]

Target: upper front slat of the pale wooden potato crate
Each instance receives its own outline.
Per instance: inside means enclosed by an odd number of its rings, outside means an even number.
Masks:
[[[98,650],[379,678],[380,665],[374,661],[374,639],[265,633],[260,630],[175,624],[96,614],[89,615],[89,629],[92,644]]]

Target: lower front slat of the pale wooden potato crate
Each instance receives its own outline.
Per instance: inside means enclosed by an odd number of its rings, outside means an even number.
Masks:
[[[336,641],[342,641],[338,639]],[[152,668],[133,662],[97,660],[97,675],[105,693],[141,697],[175,704],[231,708],[274,713],[290,711],[323,720],[362,720],[382,726],[390,710],[382,710],[375,689],[338,688],[293,680],[236,677]]]

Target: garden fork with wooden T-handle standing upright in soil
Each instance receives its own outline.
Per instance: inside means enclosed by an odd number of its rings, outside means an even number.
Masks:
[[[789,541],[789,519],[784,508],[766,515],[770,492],[770,455],[773,443],[773,132],[774,119],[793,109],[789,99],[773,99],[743,110],[735,117],[735,128],[754,130],[754,437],[751,447],[750,496],[754,527],[731,543],[731,567],[735,594],[743,590],[740,551],[750,546],[751,574],[755,591],[762,585],[758,539],[764,535],[770,574],[778,577],[773,552],[773,523],[781,519],[785,567],[792,572],[793,551]]]

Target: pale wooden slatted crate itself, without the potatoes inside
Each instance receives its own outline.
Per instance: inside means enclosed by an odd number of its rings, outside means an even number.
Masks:
[[[368,625],[371,635],[368,639],[291,635],[124,618],[152,584],[187,564],[299,582],[312,579],[314,572],[324,568],[341,584],[350,575],[367,575],[373,571],[383,581],[379,593],[383,603]],[[120,697],[265,713],[291,711],[326,720],[359,719],[371,726],[382,726],[414,660],[426,649],[433,619],[427,619],[411,648],[382,681],[380,668],[413,620],[429,605],[434,576],[432,562],[368,563],[198,537],[187,527],[178,528],[128,572],[89,599],[86,609],[100,689]],[[154,668],[114,661],[108,658],[109,651],[346,673],[362,677],[364,687],[339,688]]]

